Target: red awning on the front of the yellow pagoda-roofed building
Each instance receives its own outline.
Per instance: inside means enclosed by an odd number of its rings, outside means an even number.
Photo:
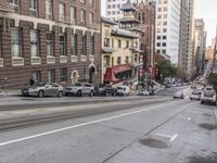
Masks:
[[[115,77],[115,74],[120,73],[120,72],[131,71],[131,70],[132,68],[129,64],[114,65],[112,67],[107,67],[104,75],[104,82],[117,83],[119,82],[119,79]]]

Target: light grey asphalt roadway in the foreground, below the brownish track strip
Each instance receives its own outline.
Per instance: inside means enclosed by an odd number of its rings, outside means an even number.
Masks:
[[[217,162],[216,106],[188,99],[131,102],[127,109],[111,104],[125,110],[2,131],[0,163]]]

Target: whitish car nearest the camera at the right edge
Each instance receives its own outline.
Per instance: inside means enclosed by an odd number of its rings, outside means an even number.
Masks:
[[[212,103],[216,105],[216,93],[214,90],[205,90],[201,96],[201,104]]]

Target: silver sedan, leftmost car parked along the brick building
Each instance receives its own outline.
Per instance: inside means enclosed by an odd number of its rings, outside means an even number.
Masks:
[[[41,83],[35,86],[25,87],[22,89],[23,96],[35,96],[35,97],[62,97],[64,88],[55,83]]]

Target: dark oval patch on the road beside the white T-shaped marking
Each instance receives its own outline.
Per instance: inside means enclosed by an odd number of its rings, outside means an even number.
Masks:
[[[140,143],[148,146],[148,147],[152,147],[152,148],[168,148],[169,147],[168,143],[166,143],[162,140],[152,139],[152,138],[141,139]]]

